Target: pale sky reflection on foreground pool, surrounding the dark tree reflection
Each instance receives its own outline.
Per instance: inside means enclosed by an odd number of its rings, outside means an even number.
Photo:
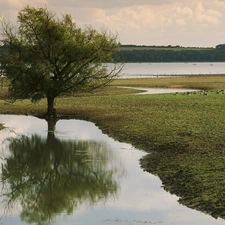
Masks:
[[[37,133],[46,137],[47,123],[28,116],[0,116],[0,123],[5,123],[17,134],[31,135]],[[0,132],[0,140],[9,134],[9,129]],[[161,181],[140,168],[139,159],[145,155],[130,144],[119,143],[103,134],[93,123],[80,120],[61,120],[56,124],[56,136],[61,139],[82,139],[106,142],[113,151],[116,162],[122,164],[126,176],[120,180],[120,191],[111,200],[101,201],[87,207],[81,205],[73,216],[58,216],[57,224],[63,225],[114,225],[114,224],[224,224],[223,220],[215,220],[201,212],[188,209],[177,203],[178,198],[161,188]],[[0,146],[1,148],[1,146]],[[115,160],[113,161],[115,162]],[[4,209],[0,208],[3,214]],[[25,224],[20,221],[18,212],[3,218],[1,224]]]

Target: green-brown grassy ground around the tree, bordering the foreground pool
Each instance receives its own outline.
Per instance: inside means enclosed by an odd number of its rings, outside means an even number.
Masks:
[[[117,87],[123,85],[208,92],[132,95],[134,90]],[[56,108],[60,115],[92,121],[109,136],[149,152],[141,166],[158,175],[165,190],[190,208],[225,219],[225,94],[217,94],[222,89],[225,76],[124,79],[94,94],[60,97]],[[46,100],[35,105],[0,100],[1,114],[45,110]]]

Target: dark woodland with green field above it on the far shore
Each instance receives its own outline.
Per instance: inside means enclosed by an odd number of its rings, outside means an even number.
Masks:
[[[225,44],[215,48],[121,45],[117,62],[225,62]]]

